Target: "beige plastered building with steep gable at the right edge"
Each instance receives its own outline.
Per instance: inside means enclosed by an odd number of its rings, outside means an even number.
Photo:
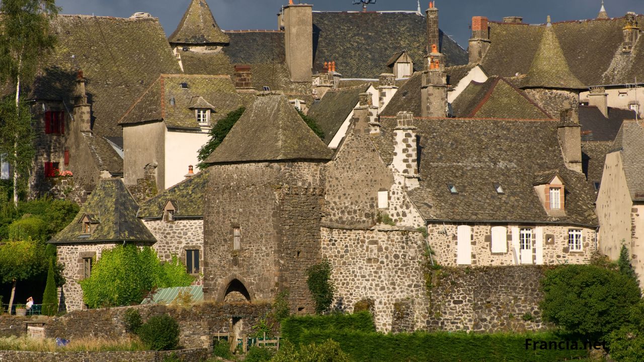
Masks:
[[[635,120],[621,125],[606,162],[597,197],[600,249],[613,260],[621,245],[630,251],[631,263],[644,286],[644,130]]]

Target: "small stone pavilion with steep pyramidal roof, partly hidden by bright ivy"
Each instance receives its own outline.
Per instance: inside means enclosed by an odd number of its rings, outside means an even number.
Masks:
[[[70,225],[49,241],[64,265],[61,309],[84,308],[81,285],[105,249],[132,243],[152,245],[155,236],[137,219],[138,205],[119,178],[102,179]]]

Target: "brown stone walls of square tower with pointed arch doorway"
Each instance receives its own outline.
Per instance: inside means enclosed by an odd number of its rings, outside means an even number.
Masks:
[[[319,261],[324,184],[325,166],[316,162],[213,166],[204,215],[205,298],[223,301],[240,292],[272,300],[288,288],[292,310],[312,310],[305,271]]]

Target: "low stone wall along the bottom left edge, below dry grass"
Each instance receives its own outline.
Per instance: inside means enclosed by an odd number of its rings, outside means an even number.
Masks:
[[[137,351],[137,352],[26,352],[1,350],[0,361],[6,362],[156,362],[166,357],[177,357],[182,362],[202,362],[208,358],[205,348],[175,351]]]

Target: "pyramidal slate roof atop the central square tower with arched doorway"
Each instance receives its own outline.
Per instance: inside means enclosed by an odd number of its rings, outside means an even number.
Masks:
[[[206,162],[329,160],[331,151],[283,95],[262,95],[247,108]]]

